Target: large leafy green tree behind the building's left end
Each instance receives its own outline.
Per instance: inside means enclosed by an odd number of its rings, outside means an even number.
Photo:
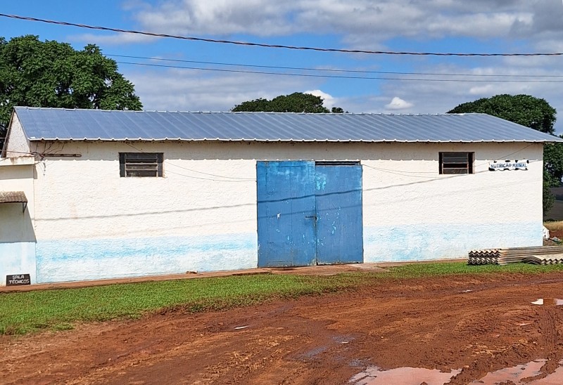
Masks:
[[[134,85],[118,65],[89,44],[39,41],[27,35],[0,37],[0,125],[7,126],[15,105],[30,107],[141,110]],[[0,132],[4,138],[5,130]],[[1,140],[1,139],[0,139]]]

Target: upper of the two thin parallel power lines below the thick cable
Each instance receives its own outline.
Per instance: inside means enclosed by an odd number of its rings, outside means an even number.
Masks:
[[[521,75],[521,74],[447,74],[440,72],[396,72],[396,71],[368,71],[368,70],[342,70],[334,68],[310,68],[310,67],[284,67],[280,65],[255,65],[255,64],[241,64],[241,63],[220,63],[220,62],[203,62],[198,60],[181,60],[170,58],[149,58],[146,56],[129,56],[129,55],[114,55],[105,54],[112,58],[130,58],[130,59],[144,59],[144,60],[157,60],[175,63],[195,63],[195,64],[210,64],[210,65],[229,65],[233,67],[252,67],[252,68],[271,68],[277,70],[303,70],[303,71],[318,71],[318,72],[350,72],[360,74],[400,74],[400,75],[435,75],[435,76],[472,76],[472,77],[563,77],[563,75]]]

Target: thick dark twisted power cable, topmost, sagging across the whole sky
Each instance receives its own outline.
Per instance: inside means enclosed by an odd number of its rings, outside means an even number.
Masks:
[[[144,36],[151,37],[167,37],[171,39],[182,39],[191,41],[204,41],[207,43],[220,43],[220,44],[235,44],[239,46],[258,46],[263,48],[286,48],[286,49],[296,49],[296,50],[306,50],[306,51],[321,51],[321,52],[343,52],[343,53],[369,53],[374,55],[412,55],[412,56],[563,56],[563,53],[441,53],[441,52],[397,52],[397,51],[368,51],[361,49],[343,49],[343,48],[320,48],[320,47],[308,47],[308,46],[286,46],[282,44],[264,44],[255,43],[251,41],[233,41],[233,40],[218,40],[218,39],[205,39],[203,37],[190,37],[190,36],[180,36],[173,34],[157,34],[155,32],[145,32],[136,30],[122,30],[120,28],[111,27],[101,27],[87,24],[78,24],[75,22],[64,22],[57,20],[39,19],[39,18],[29,18],[20,15],[8,15],[6,13],[0,13],[3,18],[11,18],[17,20],[27,20],[36,22],[46,22],[49,24],[56,25],[66,25],[70,27],[87,28],[89,30],[100,30],[100,31],[110,31],[110,32],[121,32],[125,34],[141,34]]]

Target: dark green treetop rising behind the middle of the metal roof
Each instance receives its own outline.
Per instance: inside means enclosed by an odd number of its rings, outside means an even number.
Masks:
[[[255,99],[248,100],[234,106],[233,112],[313,112],[329,113],[327,107],[322,105],[320,96],[310,93],[295,92],[291,95],[280,95],[272,100]],[[332,112],[344,112],[341,107],[332,107]]]

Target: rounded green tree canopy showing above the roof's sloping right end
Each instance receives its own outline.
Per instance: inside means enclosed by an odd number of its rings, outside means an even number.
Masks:
[[[500,117],[522,126],[545,132],[554,133],[553,124],[557,111],[544,99],[529,95],[497,95],[492,98],[482,98],[469,103],[462,103],[449,114],[463,112],[481,112],[483,114]]]

